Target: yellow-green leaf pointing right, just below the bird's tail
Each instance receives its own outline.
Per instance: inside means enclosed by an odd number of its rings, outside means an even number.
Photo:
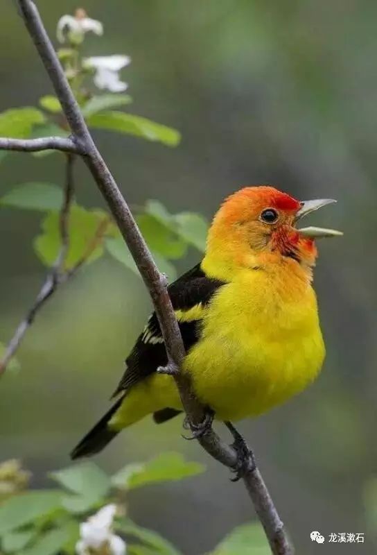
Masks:
[[[204,472],[200,463],[185,461],[182,454],[163,453],[148,463],[125,466],[112,477],[112,484],[122,489],[132,489],[159,481],[181,480]]]

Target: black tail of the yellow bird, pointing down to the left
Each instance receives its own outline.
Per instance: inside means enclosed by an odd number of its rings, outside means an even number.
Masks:
[[[107,411],[105,416],[103,416],[99,422],[87,433],[87,435],[82,438],[80,443],[71,452],[71,459],[80,459],[83,456],[91,456],[99,453],[103,448],[112,441],[112,439],[119,432],[115,429],[109,427],[108,423],[111,420],[114,413],[119,409],[123,401],[123,398],[114,403],[112,408]]]

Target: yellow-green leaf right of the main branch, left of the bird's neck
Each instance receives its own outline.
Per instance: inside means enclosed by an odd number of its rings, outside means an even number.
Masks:
[[[170,259],[182,258],[186,254],[187,245],[185,241],[179,239],[164,223],[161,223],[150,214],[140,214],[137,216],[137,224],[148,243],[149,248],[154,253],[159,253]]]

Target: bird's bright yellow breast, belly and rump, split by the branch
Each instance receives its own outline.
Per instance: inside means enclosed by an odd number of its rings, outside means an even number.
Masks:
[[[302,391],[324,359],[317,301],[309,284],[247,272],[220,289],[204,315],[201,341],[184,361],[196,395],[220,420],[256,416]],[[134,386],[113,423],[182,408],[173,379]]]

